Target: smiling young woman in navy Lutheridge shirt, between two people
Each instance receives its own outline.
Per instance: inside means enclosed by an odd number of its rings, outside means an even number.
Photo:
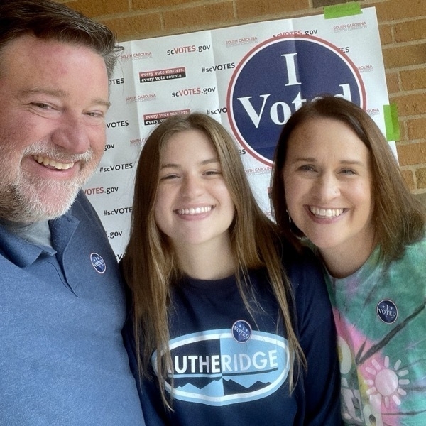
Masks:
[[[121,267],[148,425],[339,424],[321,271],[280,246],[214,119],[173,116],[149,136]]]

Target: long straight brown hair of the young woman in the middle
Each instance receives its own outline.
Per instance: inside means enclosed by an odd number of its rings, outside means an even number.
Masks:
[[[280,259],[278,231],[253,197],[234,140],[221,124],[205,114],[172,116],[154,129],[141,151],[136,170],[131,235],[121,265],[126,283],[133,293],[139,372],[141,376],[149,376],[151,356],[157,351],[157,380],[163,403],[168,408],[171,408],[171,399],[165,395],[164,383],[171,361],[168,350],[168,314],[173,309],[170,288],[180,278],[182,271],[168,240],[155,224],[154,207],[163,146],[174,133],[190,129],[203,131],[212,141],[222,165],[224,181],[235,204],[236,213],[229,229],[231,250],[235,258],[239,291],[249,310],[249,270],[266,268],[288,334],[290,389],[294,386],[293,376],[297,377],[295,367],[298,369],[306,364],[293,329],[290,314],[292,293]]]

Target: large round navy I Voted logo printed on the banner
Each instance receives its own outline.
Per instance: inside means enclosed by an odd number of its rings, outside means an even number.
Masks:
[[[366,107],[361,75],[342,50],[311,35],[268,39],[245,55],[231,77],[226,96],[231,129],[250,155],[272,165],[285,121],[324,94]]]

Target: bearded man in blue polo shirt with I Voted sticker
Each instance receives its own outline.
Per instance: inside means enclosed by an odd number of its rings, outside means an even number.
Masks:
[[[104,152],[108,28],[0,0],[0,425],[142,426],[123,285],[80,191]]]

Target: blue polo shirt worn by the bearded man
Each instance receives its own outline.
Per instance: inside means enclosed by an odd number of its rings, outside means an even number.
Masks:
[[[116,258],[82,192],[53,248],[0,226],[0,425],[143,426]]]

